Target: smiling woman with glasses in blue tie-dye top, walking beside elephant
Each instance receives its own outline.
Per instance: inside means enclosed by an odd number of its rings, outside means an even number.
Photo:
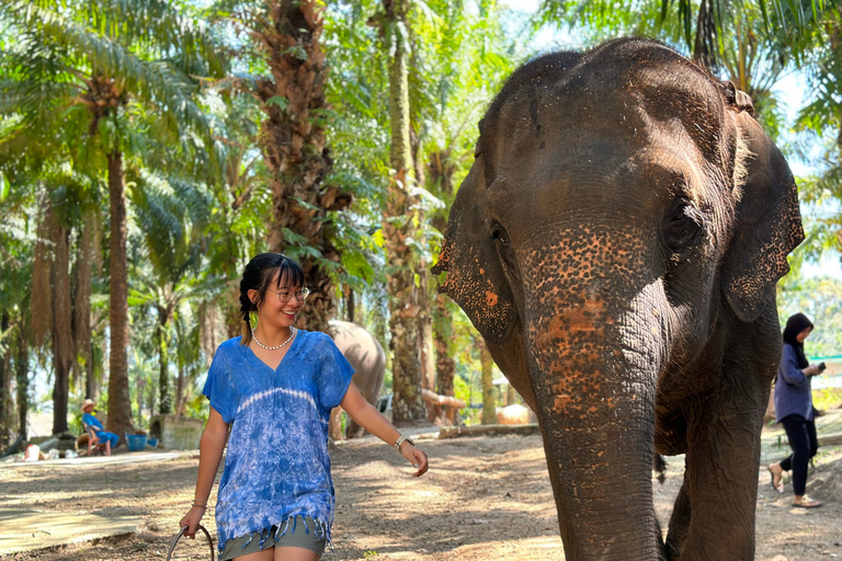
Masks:
[[[195,535],[228,442],[216,503],[219,561],[321,557],[333,522],[328,419],[337,405],[398,448],[416,477],[428,469],[426,455],[362,397],[333,341],[293,327],[308,294],[295,261],[252,259],[240,280],[243,334],[219,345],[207,374],[195,501],[180,526]]]

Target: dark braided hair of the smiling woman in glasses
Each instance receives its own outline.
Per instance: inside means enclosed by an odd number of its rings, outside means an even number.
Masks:
[[[249,316],[252,311],[258,311],[258,307],[263,301],[266,289],[275,275],[277,275],[276,286],[278,288],[281,288],[282,280],[286,280],[289,286],[304,286],[301,265],[283,253],[254,255],[242,271],[242,278],[240,279],[240,312],[243,321],[240,344],[242,345],[248,345],[251,342],[251,319]],[[259,293],[253,302],[249,298],[249,290]]]

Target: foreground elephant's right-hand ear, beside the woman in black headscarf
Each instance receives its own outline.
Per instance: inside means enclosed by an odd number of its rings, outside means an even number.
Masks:
[[[743,164],[744,181],[737,181],[738,187],[742,183],[742,196],[722,262],[722,287],[737,317],[749,322],[774,297],[777,279],[789,272],[786,256],[804,241],[804,229],[798,192],[784,156],[748,113],[732,115],[751,153]]]

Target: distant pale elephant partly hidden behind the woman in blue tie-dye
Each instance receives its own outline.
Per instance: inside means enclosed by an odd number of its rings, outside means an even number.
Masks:
[[[328,335],[354,367],[354,385],[360,389],[365,400],[375,405],[379,398],[383,378],[386,376],[386,353],[380,343],[363,327],[348,321],[331,320]],[[341,439],[340,408],[330,412],[330,436]],[[364,428],[349,419],[345,427],[348,438],[363,436]]]

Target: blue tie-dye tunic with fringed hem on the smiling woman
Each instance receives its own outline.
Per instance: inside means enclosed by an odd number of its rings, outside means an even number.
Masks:
[[[330,542],[328,419],[354,370],[325,333],[299,330],[276,370],[240,339],[219,345],[204,389],[232,423],[216,502],[219,551],[240,536],[263,540],[272,526],[281,536],[297,515]]]

